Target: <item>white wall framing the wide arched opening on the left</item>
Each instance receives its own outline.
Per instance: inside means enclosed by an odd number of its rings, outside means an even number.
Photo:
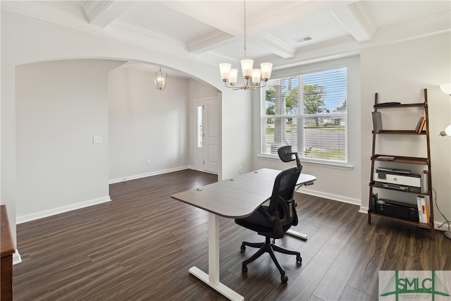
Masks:
[[[251,141],[250,94],[223,87],[218,66],[201,59],[168,56],[164,51],[127,44],[61,25],[1,10],[1,204],[6,204],[16,241],[16,66],[59,59],[118,59],[167,66],[198,78],[221,93],[219,178],[235,174],[250,161],[252,153],[234,148],[235,142]],[[243,108],[240,109],[243,103]],[[241,122],[242,124],[239,124]],[[233,126],[229,126],[232,124]],[[237,130],[245,128],[246,130]],[[250,145],[250,143],[249,143]],[[251,149],[247,147],[247,149]],[[247,150],[245,149],[245,150]],[[225,166],[221,166],[225,165]],[[16,253],[17,254],[17,253]]]

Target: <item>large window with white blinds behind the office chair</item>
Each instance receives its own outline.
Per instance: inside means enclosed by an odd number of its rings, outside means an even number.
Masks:
[[[268,81],[261,90],[261,154],[292,145],[303,161],[347,163],[346,67]]]

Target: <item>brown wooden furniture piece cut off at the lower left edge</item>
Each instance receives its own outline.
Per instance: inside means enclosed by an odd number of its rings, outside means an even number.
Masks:
[[[6,206],[0,206],[0,301],[13,300],[13,253],[14,242],[11,235],[11,228],[9,228],[8,213]]]

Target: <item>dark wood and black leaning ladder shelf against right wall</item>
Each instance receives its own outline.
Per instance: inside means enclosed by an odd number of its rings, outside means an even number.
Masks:
[[[412,107],[418,107],[418,108],[424,108],[424,116],[426,117],[426,121],[424,123],[426,127],[426,131],[422,131],[421,133],[417,133],[415,130],[379,130],[374,131],[373,130],[373,148],[371,151],[371,176],[370,176],[370,183],[369,183],[369,206],[368,206],[368,223],[371,223],[371,216],[378,216],[385,219],[392,219],[394,221],[400,221],[403,223],[409,223],[412,225],[416,225],[422,228],[429,229],[431,231],[431,239],[434,240],[434,213],[433,213],[433,196],[432,196],[432,172],[431,172],[431,145],[429,142],[429,116],[428,116],[428,94],[427,90],[424,89],[424,102],[421,103],[415,103],[415,104],[397,104],[397,105],[391,105],[391,106],[376,106],[378,104],[378,93],[374,96],[374,112],[377,112],[378,109],[383,110],[389,110],[389,109],[405,109],[405,108],[412,108]],[[424,135],[426,136],[426,152],[427,157],[426,158],[419,158],[419,157],[413,157],[413,156],[392,156],[387,154],[376,154],[376,136],[377,135]],[[388,159],[389,158],[389,159]],[[400,164],[420,164],[427,166],[428,168],[428,191],[425,193],[421,192],[408,192],[408,191],[402,191],[403,193],[411,193],[416,195],[424,195],[428,197],[429,199],[429,213],[430,213],[430,220],[429,223],[421,223],[419,221],[410,221],[408,219],[401,219],[394,216],[388,216],[385,214],[377,213],[376,211],[371,210],[371,199],[373,197],[373,189],[383,189],[383,190],[397,190],[395,188],[388,188],[388,187],[378,187],[375,185],[374,180],[374,169],[375,169],[375,162],[376,161],[384,161],[388,164],[390,163],[400,163]]]

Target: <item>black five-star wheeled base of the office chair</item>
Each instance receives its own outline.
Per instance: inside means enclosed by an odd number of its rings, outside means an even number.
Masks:
[[[285,270],[279,264],[274,252],[279,252],[279,253],[289,254],[289,255],[296,255],[296,263],[298,265],[302,264],[301,253],[296,252],[296,251],[286,250],[283,247],[279,247],[278,245],[274,245],[274,243],[271,242],[271,238],[268,238],[268,237],[266,237],[266,241],[265,242],[242,242],[242,244],[241,244],[241,252],[245,252],[246,246],[247,247],[256,247],[256,248],[259,248],[259,250],[257,252],[255,252],[255,254],[253,254],[251,257],[246,259],[244,262],[242,262],[242,269],[241,269],[241,271],[244,274],[247,273],[247,264],[253,262],[255,259],[259,258],[262,254],[264,254],[266,252],[269,253],[269,255],[271,256],[271,259],[273,259],[274,264],[276,264],[277,269],[280,272],[280,280],[283,283],[287,283],[288,282],[288,277],[285,275]]]

